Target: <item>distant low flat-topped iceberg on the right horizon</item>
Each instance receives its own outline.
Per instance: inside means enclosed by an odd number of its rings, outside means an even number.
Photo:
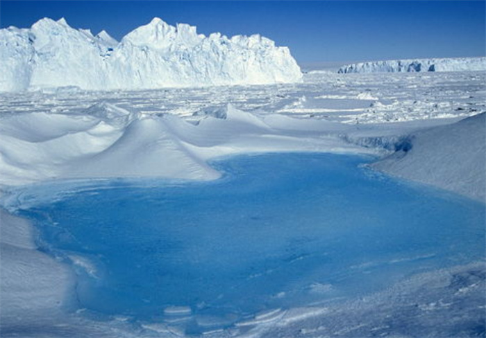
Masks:
[[[342,66],[337,73],[403,73],[419,71],[486,71],[486,57],[361,62]]]

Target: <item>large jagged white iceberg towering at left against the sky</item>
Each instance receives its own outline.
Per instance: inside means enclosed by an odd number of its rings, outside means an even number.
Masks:
[[[187,24],[155,18],[121,42],[106,31],[41,19],[31,28],[0,30],[0,91],[75,86],[151,89],[299,82],[290,51],[260,35],[206,37]]]

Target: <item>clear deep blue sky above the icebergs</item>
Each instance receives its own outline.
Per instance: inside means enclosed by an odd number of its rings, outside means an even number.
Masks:
[[[302,64],[485,55],[486,1],[0,1],[0,26],[65,17],[121,39],[160,17],[208,35],[260,33]]]

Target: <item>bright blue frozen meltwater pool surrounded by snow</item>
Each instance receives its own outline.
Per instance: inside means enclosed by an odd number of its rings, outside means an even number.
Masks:
[[[484,258],[484,204],[360,166],[370,160],[245,155],[213,163],[217,181],[37,185],[19,213],[76,270],[78,309],[186,334]]]

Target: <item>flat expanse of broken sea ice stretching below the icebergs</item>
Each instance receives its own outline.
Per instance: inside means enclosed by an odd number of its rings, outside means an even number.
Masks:
[[[147,91],[75,88],[0,95],[0,118],[12,112],[76,114],[100,101],[143,114],[192,114],[232,103],[238,109],[355,124],[464,118],[486,111],[486,72],[308,73],[304,83]]]

